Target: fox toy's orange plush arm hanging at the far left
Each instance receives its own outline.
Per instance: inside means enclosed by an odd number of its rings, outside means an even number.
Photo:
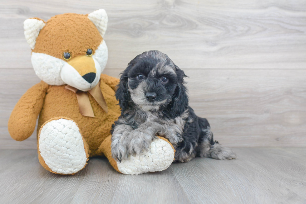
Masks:
[[[47,83],[37,83],[29,88],[15,105],[8,120],[8,131],[14,140],[22,141],[32,135],[47,88]]]

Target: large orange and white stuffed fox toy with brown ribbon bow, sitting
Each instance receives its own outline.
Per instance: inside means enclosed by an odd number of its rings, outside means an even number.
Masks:
[[[17,102],[8,130],[13,139],[25,140],[39,116],[38,159],[52,173],[77,173],[93,156],[105,155],[125,174],[161,171],[174,159],[173,146],[161,137],[141,155],[121,162],[111,157],[111,125],[121,111],[114,96],[119,79],[101,74],[108,58],[107,21],[104,9],[24,21],[32,65],[42,81]]]

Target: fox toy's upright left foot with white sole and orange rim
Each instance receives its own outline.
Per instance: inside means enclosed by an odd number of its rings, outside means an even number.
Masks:
[[[77,124],[69,118],[46,121],[39,130],[37,151],[40,164],[52,173],[75,174],[86,166],[89,148]]]

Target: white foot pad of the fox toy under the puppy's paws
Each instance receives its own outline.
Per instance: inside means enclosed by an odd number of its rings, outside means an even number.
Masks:
[[[129,156],[117,162],[118,169],[124,174],[140,174],[167,169],[174,159],[174,151],[165,140],[155,139],[150,150],[140,155]]]

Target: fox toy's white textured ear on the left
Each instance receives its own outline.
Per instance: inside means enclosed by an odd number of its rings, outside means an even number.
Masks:
[[[23,22],[24,36],[32,50],[35,47],[39,31],[42,30],[45,25],[46,23],[39,18],[28,18]]]

